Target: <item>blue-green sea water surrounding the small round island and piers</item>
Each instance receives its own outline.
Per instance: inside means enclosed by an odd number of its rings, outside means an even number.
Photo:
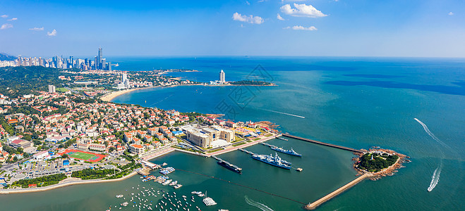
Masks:
[[[224,113],[236,121],[270,120],[279,130],[352,148],[381,146],[411,156],[394,177],[362,181],[320,210],[465,210],[465,60],[423,58],[109,58],[121,70],[188,68],[171,75],[208,82],[226,72],[228,81],[263,77],[277,87],[170,87],[134,91],[114,99],[182,112]],[[261,65],[261,72],[253,71]],[[248,98],[238,98],[238,91]],[[243,95],[242,95],[243,96]],[[228,109],[226,109],[228,108]],[[234,113],[231,113],[231,109]],[[304,118],[302,118],[304,117]],[[418,118],[437,139],[433,139]],[[239,175],[215,160],[171,153],[153,160],[237,184],[312,202],[354,179],[351,153],[289,139],[303,158],[282,155],[303,172],[281,170],[242,152],[219,157],[243,168]],[[442,143],[443,144],[442,144]],[[256,153],[274,153],[251,146]],[[442,163],[442,165],[441,165]],[[441,167],[442,166],[442,167]],[[440,179],[428,192],[433,172]],[[154,172],[154,174],[158,174]],[[178,194],[208,191],[219,205],[202,210],[300,210],[301,204],[198,174],[176,171]],[[0,196],[9,210],[105,210],[121,203],[116,194],[133,186],[162,188],[138,177],[111,184],[70,186],[43,193]],[[164,187],[172,191],[172,188]],[[131,191],[131,190],[128,190]],[[253,200],[246,201],[248,199]],[[27,198],[28,203],[20,203]],[[155,200],[153,200],[155,202]],[[255,202],[255,203],[254,203]],[[197,200],[200,205],[200,200]],[[255,206],[254,206],[255,205]],[[35,209],[34,209],[35,207]],[[125,208],[123,208],[125,209]],[[127,207],[131,210],[133,207]]]

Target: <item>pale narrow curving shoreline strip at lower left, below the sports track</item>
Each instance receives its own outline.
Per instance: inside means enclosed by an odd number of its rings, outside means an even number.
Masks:
[[[16,189],[4,189],[0,190],[0,194],[8,194],[8,193],[33,193],[33,192],[41,192],[41,191],[49,191],[55,188],[62,188],[66,186],[73,186],[76,184],[95,184],[95,183],[103,183],[103,182],[112,182],[112,181],[123,181],[130,177],[133,177],[135,174],[138,174],[136,171],[131,172],[124,177],[119,179],[92,179],[92,180],[77,180],[77,181],[66,181],[64,183],[54,184],[51,186],[39,187],[39,188],[16,188]]]

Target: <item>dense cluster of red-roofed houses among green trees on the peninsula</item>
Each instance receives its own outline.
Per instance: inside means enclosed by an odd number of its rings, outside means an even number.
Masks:
[[[7,124],[16,132],[34,133],[42,142],[59,144],[76,139],[76,146],[89,151],[116,151],[129,149],[143,155],[147,151],[177,143],[168,128],[173,124],[188,122],[189,117],[176,110],[159,110],[116,103],[76,103],[80,96],[39,92],[37,95],[15,98],[11,106],[2,110],[30,106],[37,112],[25,115],[13,113],[5,116]],[[57,113],[57,108],[66,108]],[[43,115],[45,112],[52,115]],[[17,129],[20,128],[20,131]],[[11,137],[3,127],[1,135]],[[28,148],[31,141],[22,139],[8,141],[8,145]],[[140,151],[138,146],[143,146]]]

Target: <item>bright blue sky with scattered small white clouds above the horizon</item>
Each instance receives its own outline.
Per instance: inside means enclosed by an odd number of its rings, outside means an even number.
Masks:
[[[465,57],[460,0],[1,0],[0,26],[23,56]]]

